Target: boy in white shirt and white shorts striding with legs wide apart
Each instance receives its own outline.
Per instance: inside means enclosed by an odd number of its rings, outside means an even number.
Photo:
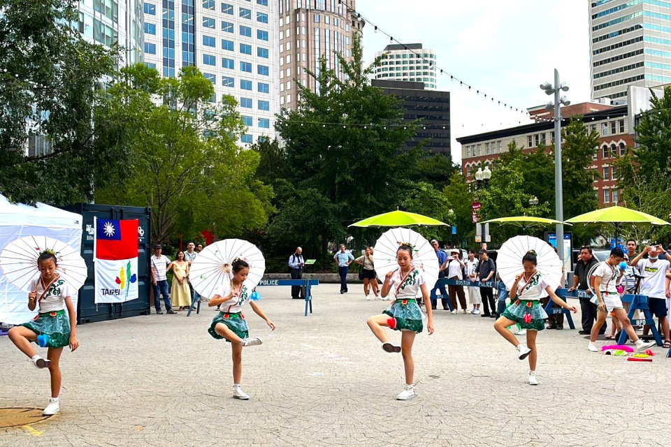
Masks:
[[[636,344],[637,351],[645,351],[656,342],[645,343],[638,338],[636,331],[631,327],[631,322],[624,312],[624,306],[620,295],[617,293],[617,284],[622,280],[625,268],[621,268],[620,263],[624,261],[624,253],[622,249],[615,247],[610,251],[610,257],[592,273],[594,277],[594,295],[591,299],[593,304],[598,303],[596,312],[596,324],[592,326],[592,332],[589,336],[589,345],[587,349],[592,352],[599,352],[600,349],[596,347],[596,337],[599,335],[599,329],[605,323],[608,312],[614,312],[617,319],[622,323],[622,327],[627,332],[630,339],[633,339]],[[636,259],[634,261],[637,261]],[[596,301],[596,302],[595,302]]]

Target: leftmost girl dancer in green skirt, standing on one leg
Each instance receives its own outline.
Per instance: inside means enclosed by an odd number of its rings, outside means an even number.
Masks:
[[[18,349],[30,358],[38,369],[49,368],[51,374],[51,399],[42,414],[51,416],[58,413],[61,390],[61,370],[59,360],[64,346],[71,351],[79,347],[77,340],[77,321],[72,305],[73,289],[56,272],[56,256],[53,251],[43,251],[37,258],[40,277],[31,282],[28,294],[28,309],[35,310],[39,305],[39,314],[29,323],[23,323],[9,330],[9,338]],[[65,309],[68,309],[68,315]],[[69,316],[69,320],[68,320]],[[47,360],[38,356],[30,342],[46,339]],[[44,344],[44,343],[42,343]]]

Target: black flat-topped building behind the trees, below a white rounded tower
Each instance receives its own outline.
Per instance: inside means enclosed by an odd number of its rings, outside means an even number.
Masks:
[[[405,142],[405,150],[422,145],[431,154],[452,155],[449,126],[449,91],[430,91],[421,82],[374,79],[373,87],[394,95],[403,108],[403,120],[419,119],[417,133]]]

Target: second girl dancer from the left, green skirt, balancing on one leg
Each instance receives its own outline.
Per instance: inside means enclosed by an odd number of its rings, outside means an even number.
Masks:
[[[208,332],[217,340],[226,339],[233,348],[233,397],[240,400],[249,400],[250,396],[240,388],[240,379],[243,375],[243,346],[256,346],[263,343],[261,337],[250,337],[247,321],[242,314],[243,305],[250,303],[255,314],[260,316],[275,330],[275,323],[264,314],[256,302],[250,301],[251,291],[244,285],[250,265],[245,261],[233,261],[233,279],[215,288],[215,295],[208,302],[208,306],[221,306],[221,312],[212,320]]]

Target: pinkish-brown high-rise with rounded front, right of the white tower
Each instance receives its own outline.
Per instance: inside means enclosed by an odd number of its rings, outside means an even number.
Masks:
[[[356,13],[355,0],[277,0],[280,14],[280,108],[295,109],[295,82],[316,91],[316,80],[305,69],[319,74],[319,57],[326,68],[345,80],[336,52],[352,57],[354,34],[365,22]]]

